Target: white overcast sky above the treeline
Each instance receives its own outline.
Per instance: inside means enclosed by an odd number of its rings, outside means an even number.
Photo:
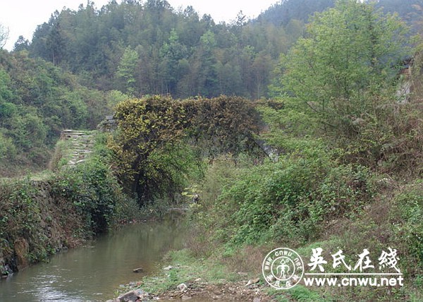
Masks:
[[[244,15],[255,18],[276,4],[278,0],[167,0],[173,8],[192,6],[200,17],[210,14],[216,23],[234,20],[239,11]],[[109,0],[94,0],[97,8],[107,4]],[[121,0],[118,0],[121,3]],[[32,40],[32,34],[40,25],[47,22],[51,13],[63,7],[77,10],[80,4],[87,4],[87,0],[1,0],[0,24],[8,28],[9,36],[5,49],[13,49],[13,45],[20,35]]]

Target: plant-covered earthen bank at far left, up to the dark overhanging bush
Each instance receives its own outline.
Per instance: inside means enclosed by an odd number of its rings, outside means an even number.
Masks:
[[[0,183],[0,269],[6,276],[90,237],[85,217],[52,180]]]

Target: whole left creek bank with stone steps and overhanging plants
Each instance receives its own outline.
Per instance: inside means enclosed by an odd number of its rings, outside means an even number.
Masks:
[[[0,179],[0,274],[23,270],[129,222],[139,210],[111,171],[106,136],[63,131],[42,177]]]

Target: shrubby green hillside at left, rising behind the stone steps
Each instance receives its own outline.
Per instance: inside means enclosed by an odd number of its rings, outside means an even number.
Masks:
[[[0,50],[0,175],[45,169],[64,128],[95,128],[111,112],[107,95],[26,51]]]

